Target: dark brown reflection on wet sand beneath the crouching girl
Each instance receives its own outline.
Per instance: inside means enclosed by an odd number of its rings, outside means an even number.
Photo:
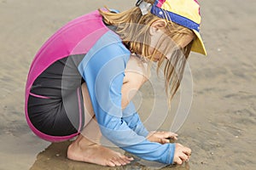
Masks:
[[[37,156],[37,160],[34,162],[30,170],[38,169],[116,169],[116,170],[149,170],[149,169],[166,169],[166,170],[189,170],[189,163],[183,166],[172,166],[172,167],[154,167],[155,164],[148,164],[148,161],[141,161],[136,158],[135,161],[131,162],[130,165],[124,167],[102,167],[90,163],[84,163],[79,161],[71,161],[67,159],[67,146],[70,144],[69,141],[61,143],[50,144],[48,148],[40,152]],[[126,154],[125,154],[126,155]],[[145,164],[147,166],[145,166]]]

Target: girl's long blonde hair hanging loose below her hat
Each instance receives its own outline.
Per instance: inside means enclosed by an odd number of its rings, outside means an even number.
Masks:
[[[151,4],[154,3],[154,0],[144,1]],[[103,21],[107,25],[116,26],[115,32],[122,39],[125,46],[129,48],[131,53],[141,54],[143,57],[151,61],[153,60],[152,56],[159,51],[156,47],[154,48],[153,54],[149,53],[149,28],[154,23],[154,21],[160,19],[159,17],[150,13],[143,15],[140,8],[138,7],[131,8],[118,14],[112,13],[109,9],[108,11],[99,9],[99,12],[102,14]],[[168,19],[167,15],[166,19]],[[193,41],[189,42],[189,44],[184,48],[181,48],[180,45],[184,41],[184,36],[194,36],[194,32],[184,26],[177,25],[170,20],[166,20],[166,23],[167,24],[164,28],[165,35],[171,37],[172,41],[177,44],[176,47],[178,48],[167,46],[163,52],[160,52],[157,72],[159,73],[161,66],[164,66],[166,94],[169,98],[168,102],[170,106],[171,100],[180,86],[186,59],[189,57]],[[168,38],[166,37],[160,37],[157,46],[161,47],[161,45],[164,44],[167,39]],[[166,54],[170,51],[172,51],[172,56],[170,59],[166,59]]]

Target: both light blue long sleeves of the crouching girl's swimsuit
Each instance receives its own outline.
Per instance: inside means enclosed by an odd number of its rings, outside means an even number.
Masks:
[[[113,31],[105,33],[79,64],[103,136],[123,150],[148,161],[171,164],[175,144],[148,141],[135,107],[121,108],[121,88],[131,52]]]

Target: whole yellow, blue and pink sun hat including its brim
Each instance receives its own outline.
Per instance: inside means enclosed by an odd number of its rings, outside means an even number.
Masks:
[[[197,0],[155,0],[152,6],[151,4],[150,6],[147,4],[145,5],[143,0],[137,1],[137,6],[140,6],[141,9],[145,9],[146,7],[147,10],[150,10],[151,14],[162,19],[171,20],[178,25],[185,26],[194,31],[196,38],[192,44],[191,50],[199,54],[207,55],[207,50],[199,33],[201,14],[200,5]]]

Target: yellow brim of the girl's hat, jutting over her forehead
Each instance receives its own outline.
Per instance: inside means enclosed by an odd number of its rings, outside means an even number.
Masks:
[[[207,50],[206,50],[205,45],[201,39],[200,33],[195,30],[192,30],[192,31],[194,31],[196,38],[192,44],[191,51],[194,51],[195,53],[207,55]]]

